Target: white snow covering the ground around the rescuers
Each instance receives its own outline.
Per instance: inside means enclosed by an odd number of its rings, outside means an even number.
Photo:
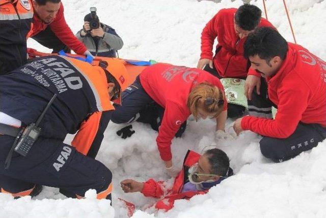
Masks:
[[[287,0],[298,44],[326,60],[326,1]],[[124,41],[120,57],[196,66],[200,55],[200,35],[206,22],[222,8],[239,7],[242,1],[221,3],[196,0],[63,0],[66,20],[77,32],[89,8],[97,7],[102,22],[112,26]],[[251,1],[263,11],[261,0]],[[268,19],[293,42],[281,0],[267,0]],[[29,47],[49,50],[33,40]],[[231,126],[234,120],[228,119]],[[110,123],[97,159],[113,172],[113,207],[108,200],[95,200],[94,191],[87,199],[67,199],[57,188],[45,187],[38,197],[13,200],[0,193],[0,217],[126,217],[126,209],[117,198],[137,205],[133,217],[326,217],[326,141],[309,152],[283,163],[263,158],[260,138],[250,132],[233,141],[214,141],[212,120],[189,120],[182,138],[172,144],[173,161],[181,167],[188,149],[201,152],[217,144],[231,159],[236,175],[213,187],[207,195],[190,201],[178,200],[169,212],[144,210],[155,202],[140,193],[123,193],[119,186],[126,178],[173,179],[165,173],[155,138],[148,125],[135,123],[136,134],[125,140],[116,135],[121,126]],[[72,139],[68,136],[66,142]],[[154,212],[154,213],[153,213]],[[153,213],[153,214],[152,214]]]

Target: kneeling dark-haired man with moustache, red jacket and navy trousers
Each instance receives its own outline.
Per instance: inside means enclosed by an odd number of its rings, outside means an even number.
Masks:
[[[271,28],[260,28],[249,35],[244,57],[249,58],[255,70],[248,78],[256,78],[259,86],[262,76],[267,84],[267,95],[246,95],[252,96],[257,108],[263,103],[278,111],[274,119],[239,118],[233,126],[235,132],[250,130],[264,136],[261,153],[276,162],[310,150],[324,140],[326,63],[301,45],[286,42]]]

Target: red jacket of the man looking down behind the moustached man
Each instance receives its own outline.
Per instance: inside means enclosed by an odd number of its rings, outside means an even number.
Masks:
[[[216,70],[222,77],[247,77],[248,60],[243,57],[243,44],[247,37],[240,39],[234,30],[234,14],[236,8],[220,10],[205,26],[202,32],[200,58],[213,60]],[[261,18],[258,27],[273,27],[271,23]],[[216,52],[213,57],[213,44],[218,38]]]

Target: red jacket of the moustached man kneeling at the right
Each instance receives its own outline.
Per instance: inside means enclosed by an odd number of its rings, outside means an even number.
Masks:
[[[326,63],[304,47],[288,44],[280,70],[266,78],[268,97],[278,106],[275,119],[243,117],[243,130],[287,138],[299,122],[326,127]]]

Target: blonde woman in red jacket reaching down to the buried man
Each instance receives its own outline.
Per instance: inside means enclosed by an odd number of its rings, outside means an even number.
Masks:
[[[121,99],[122,105],[117,106],[111,116],[111,121],[116,124],[141,121],[140,112],[153,102],[164,110],[156,144],[170,176],[177,173],[172,162],[172,139],[180,129],[184,131],[184,124],[191,114],[196,119],[214,118],[216,137],[226,135],[224,87],[218,78],[204,70],[164,63],[145,67],[122,93]]]

